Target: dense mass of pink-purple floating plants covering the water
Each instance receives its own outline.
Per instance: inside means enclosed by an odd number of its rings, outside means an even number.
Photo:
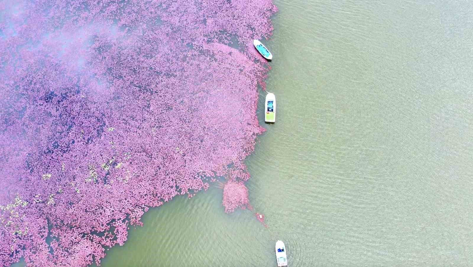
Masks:
[[[271,0],[0,0],[0,266],[100,264],[263,132]],[[229,167],[231,166],[231,167]],[[236,192],[240,192],[235,194]]]

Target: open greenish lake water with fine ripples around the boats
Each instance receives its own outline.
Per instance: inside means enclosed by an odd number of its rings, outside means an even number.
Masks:
[[[473,265],[473,2],[275,0],[278,114],[222,189],[143,216],[102,266]],[[263,123],[263,100],[259,117]]]

